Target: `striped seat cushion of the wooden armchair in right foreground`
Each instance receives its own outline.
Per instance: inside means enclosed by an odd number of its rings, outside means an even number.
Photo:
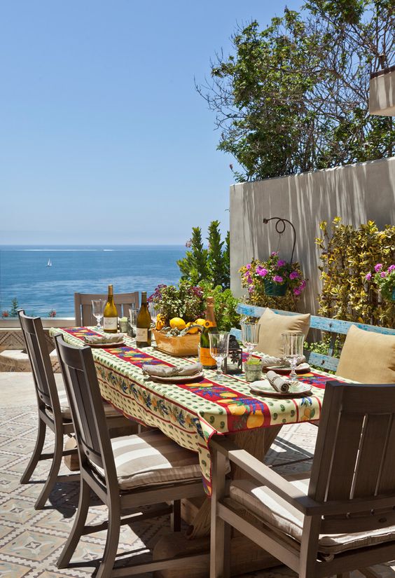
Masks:
[[[309,481],[300,479],[291,483],[300,490],[300,493],[307,495]],[[251,514],[261,518],[266,525],[301,542],[303,514],[266,486],[258,486],[249,480],[236,480],[230,486],[230,497],[248,509]],[[345,550],[391,542],[394,539],[395,526],[354,534],[320,535],[318,550],[324,554],[337,554]]]

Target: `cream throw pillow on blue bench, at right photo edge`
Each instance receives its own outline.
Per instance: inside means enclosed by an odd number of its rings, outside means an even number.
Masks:
[[[395,383],[395,335],[372,333],[352,325],[336,375],[361,383]]]

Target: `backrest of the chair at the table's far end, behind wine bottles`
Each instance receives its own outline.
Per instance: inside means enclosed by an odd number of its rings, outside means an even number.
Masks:
[[[92,299],[106,299],[107,294],[74,293],[74,310],[77,326],[96,325],[97,320],[92,315]],[[129,317],[129,310],[139,308],[139,291],[134,293],[114,294],[114,303],[118,317]]]

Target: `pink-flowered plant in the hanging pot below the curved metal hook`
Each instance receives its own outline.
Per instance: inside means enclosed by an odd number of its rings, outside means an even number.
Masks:
[[[249,291],[251,301],[257,303],[262,294],[283,297],[287,291],[293,298],[299,298],[306,287],[302,270],[298,263],[287,263],[273,252],[267,261],[253,259],[240,268],[242,287]]]

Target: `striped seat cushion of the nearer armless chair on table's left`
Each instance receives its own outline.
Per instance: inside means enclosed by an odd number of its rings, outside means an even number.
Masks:
[[[202,479],[198,454],[156,429],[111,439],[111,446],[121,490]],[[92,467],[104,476],[101,467]]]

